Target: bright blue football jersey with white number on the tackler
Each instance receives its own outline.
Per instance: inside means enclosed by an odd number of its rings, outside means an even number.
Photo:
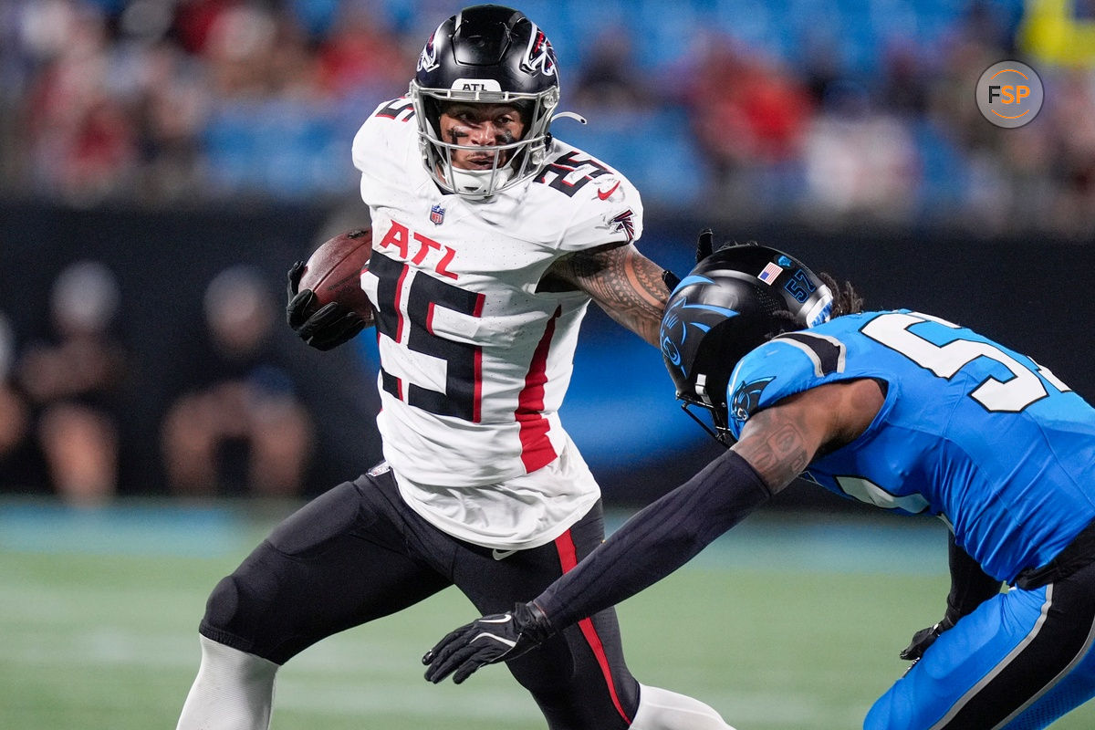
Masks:
[[[730,378],[730,430],[787,395],[858,378],[885,384],[881,409],[805,478],[942,518],[1007,582],[1095,519],[1095,409],[1030,358],[927,314],[841,316],[765,343]]]

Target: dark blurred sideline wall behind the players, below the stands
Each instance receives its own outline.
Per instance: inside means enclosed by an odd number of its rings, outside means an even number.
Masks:
[[[129,397],[134,445],[123,491],[162,494],[155,433],[165,394],[159,374],[183,339],[200,327],[206,283],[227,266],[247,263],[268,277],[270,291],[283,302],[285,270],[330,235],[335,217],[330,210],[287,207],[137,212],[0,206],[0,311],[12,321],[22,346],[48,335],[49,287],[65,265],[94,258],[116,273],[123,297],[118,324],[139,375]],[[649,216],[639,247],[684,274],[695,233],[704,225],[687,217]],[[971,326],[1027,352],[1076,392],[1095,398],[1095,304],[1090,293],[1095,246],[1090,243],[981,241],[946,231],[818,232],[775,223],[716,234],[721,240],[757,239],[851,279],[868,308],[906,306]],[[310,490],[318,493],[379,459],[372,426],[374,366],[367,345],[319,354],[300,346],[286,327],[280,331],[284,347],[304,374],[304,395],[324,425]],[[675,486],[718,449],[677,412],[660,358],[633,340],[637,338],[591,310],[572,393],[575,409],[564,409],[607,501],[616,505],[643,502]],[[638,352],[635,362],[624,362],[631,352]],[[588,361],[609,366],[587,367],[598,370],[587,374],[583,363]],[[621,405],[615,401],[621,396],[630,399]],[[653,430],[629,437],[630,450],[602,453],[597,443],[584,442],[585,432],[613,431],[616,425],[642,421],[647,413],[653,414]],[[788,501],[814,499],[803,489],[789,493]]]

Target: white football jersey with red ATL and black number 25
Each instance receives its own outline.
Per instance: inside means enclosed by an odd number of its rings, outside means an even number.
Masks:
[[[557,412],[589,297],[537,288],[561,256],[638,239],[642,202],[618,171],[558,141],[540,174],[491,198],[443,194],[408,99],[381,104],[353,154],[372,218],[361,286],[378,313],[384,457],[401,488],[414,485],[404,496],[422,493],[408,502],[439,514],[423,507],[442,491],[431,486],[497,490],[569,443]]]

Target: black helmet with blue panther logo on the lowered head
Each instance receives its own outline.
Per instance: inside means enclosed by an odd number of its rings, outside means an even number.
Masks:
[[[832,300],[814,271],[775,248],[730,245],[701,260],[661,317],[661,357],[685,412],[710,410],[715,438],[728,445],[726,390],[735,366],[781,332],[827,322]]]

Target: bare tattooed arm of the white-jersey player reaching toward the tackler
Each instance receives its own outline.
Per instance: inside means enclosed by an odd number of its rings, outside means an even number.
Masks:
[[[658,327],[669,291],[662,268],[634,246],[581,252],[565,259],[558,275],[592,297],[609,316],[658,345]]]

